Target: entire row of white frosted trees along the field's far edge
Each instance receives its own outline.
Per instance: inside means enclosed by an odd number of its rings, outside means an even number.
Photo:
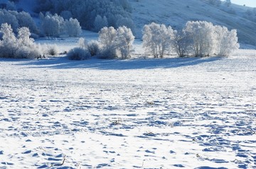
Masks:
[[[36,45],[26,27],[19,28],[15,35],[11,25],[4,23],[0,32],[0,57],[38,58],[46,53],[47,47],[42,49],[43,47]],[[188,21],[180,32],[163,24],[144,25],[142,40],[146,54],[154,58],[163,58],[173,52],[178,57],[227,57],[239,48],[236,30],[228,30],[206,21]],[[134,35],[130,28],[105,27],[100,30],[97,41],[86,42],[81,38],[80,47],[70,50],[68,57],[89,59],[97,55],[102,59],[129,59],[134,51],[133,42]]]

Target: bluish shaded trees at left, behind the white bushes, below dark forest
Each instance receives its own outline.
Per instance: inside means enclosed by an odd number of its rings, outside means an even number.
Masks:
[[[59,37],[60,35],[77,37],[82,33],[80,23],[75,18],[64,19],[57,14],[46,13],[46,15],[43,15],[43,13],[40,13],[40,19],[41,29],[38,29],[29,13],[0,9],[0,25],[8,23],[11,25],[14,33],[18,33],[17,30],[21,27],[29,28],[34,37],[37,37],[39,34],[49,37]]]

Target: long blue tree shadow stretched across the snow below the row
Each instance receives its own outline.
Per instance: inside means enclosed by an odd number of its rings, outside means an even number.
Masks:
[[[221,57],[206,58],[168,58],[168,59],[88,59],[70,61],[67,57],[53,57],[50,59],[28,60],[20,65],[31,68],[52,69],[99,69],[99,70],[129,70],[129,69],[170,69],[183,66],[193,66],[222,59]]]

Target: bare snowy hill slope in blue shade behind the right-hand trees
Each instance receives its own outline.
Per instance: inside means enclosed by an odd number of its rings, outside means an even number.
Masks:
[[[232,4],[227,6],[210,6],[200,0],[129,0],[133,8],[133,19],[137,25],[137,37],[142,37],[144,24],[156,22],[171,25],[178,30],[187,21],[210,21],[225,25],[229,29],[237,29],[239,41],[256,45],[256,23],[242,18],[248,7]],[[235,11],[235,15],[220,10]]]

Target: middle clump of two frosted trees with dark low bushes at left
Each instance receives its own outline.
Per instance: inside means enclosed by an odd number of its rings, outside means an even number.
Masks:
[[[71,49],[68,52],[70,59],[82,60],[89,59],[97,55],[101,59],[128,59],[131,57],[134,35],[132,30],[126,26],[117,29],[104,27],[99,32],[99,40],[86,42],[80,39],[80,47]]]

